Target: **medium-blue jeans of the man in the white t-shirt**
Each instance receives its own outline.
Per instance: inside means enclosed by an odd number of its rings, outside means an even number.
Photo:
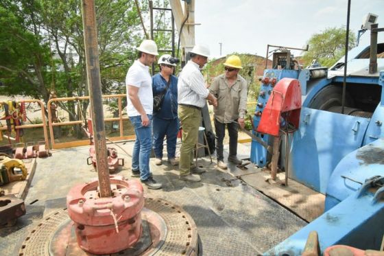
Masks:
[[[149,171],[149,156],[152,150],[152,115],[148,115],[148,118],[149,126],[143,126],[140,115],[130,117],[136,135],[132,153],[132,171],[140,170],[141,181],[152,175]]]

